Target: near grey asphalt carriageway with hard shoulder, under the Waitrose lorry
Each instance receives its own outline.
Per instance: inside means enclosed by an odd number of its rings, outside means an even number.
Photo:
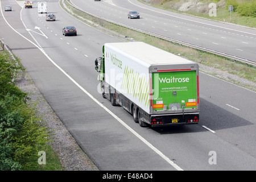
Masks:
[[[14,11],[3,11],[7,4]],[[0,38],[100,170],[256,169],[255,92],[200,73],[199,125],[140,127],[97,92],[94,59],[104,43],[121,40],[74,19],[57,0],[47,1],[56,22],[34,5],[1,0]],[[63,36],[65,25],[76,26],[77,36]]]

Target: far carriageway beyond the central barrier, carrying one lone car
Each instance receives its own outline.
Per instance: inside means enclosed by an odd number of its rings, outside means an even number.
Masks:
[[[72,0],[72,3],[86,12],[139,30],[256,61],[255,29],[161,10],[137,0]],[[132,10],[138,11],[141,18],[128,19],[127,14]]]

